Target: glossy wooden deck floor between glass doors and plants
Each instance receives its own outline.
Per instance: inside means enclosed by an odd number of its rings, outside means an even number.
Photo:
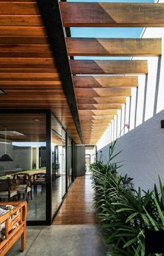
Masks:
[[[94,191],[90,183],[90,175],[76,178],[53,225],[96,223],[95,209],[93,208]]]

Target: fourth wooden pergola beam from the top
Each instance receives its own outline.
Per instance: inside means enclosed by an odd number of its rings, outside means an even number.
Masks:
[[[136,87],[138,86],[138,76],[120,75],[74,75],[74,86],[76,88],[101,88],[101,87]]]

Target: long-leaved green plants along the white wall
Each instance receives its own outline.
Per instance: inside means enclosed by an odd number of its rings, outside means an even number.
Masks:
[[[108,160],[101,158],[90,165],[95,208],[106,245],[112,256],[144,256],[145,227],[164,229],[164,188],[159,177],[160,192],[133,189],[133,179],[117,172],[113,163],[117,140],[110,145]],[[158,255],[158,254],[156,254]]]

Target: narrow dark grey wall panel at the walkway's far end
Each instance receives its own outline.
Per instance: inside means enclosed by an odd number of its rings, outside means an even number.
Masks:
[[[85,175],[85,146],[77,145],[77,176]]]

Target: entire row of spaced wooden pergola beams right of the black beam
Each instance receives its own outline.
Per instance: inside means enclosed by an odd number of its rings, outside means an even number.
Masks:
[[[163,27],[163,3],[60,2],[67,27]],[[160,38],[66,38],[85,144],[96,144],[117,110],[147,75],[145,60],[86,60],[81,57],[161,56]]]

